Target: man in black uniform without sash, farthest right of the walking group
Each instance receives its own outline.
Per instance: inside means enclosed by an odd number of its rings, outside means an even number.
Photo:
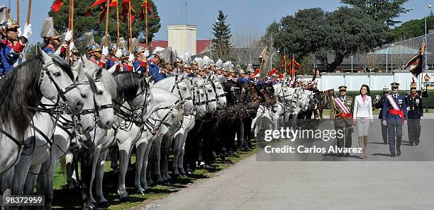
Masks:
[[[410,146],[419,145],[421,136],[421,119],[423,117],[422,97],[416,93],[416,83],[411,83],[410,95],[406,96],[408,111],[408,141]]]

